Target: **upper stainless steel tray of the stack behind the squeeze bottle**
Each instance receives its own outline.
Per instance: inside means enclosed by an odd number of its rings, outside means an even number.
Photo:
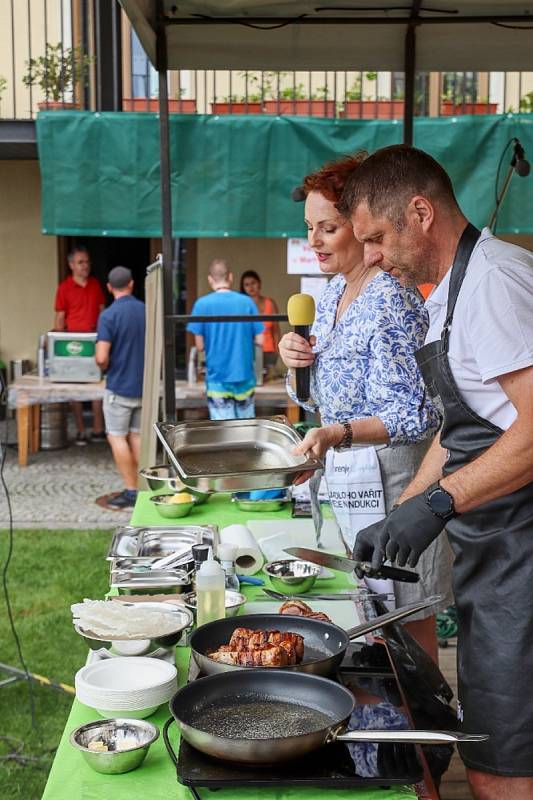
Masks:
[[[216,525],[156,525],[135,527],[125,525],[113,534],[107,560],[128,559],[147,566],[156,558],[167,555],[182,544],[208,544],[214,552],[219,536]]]

